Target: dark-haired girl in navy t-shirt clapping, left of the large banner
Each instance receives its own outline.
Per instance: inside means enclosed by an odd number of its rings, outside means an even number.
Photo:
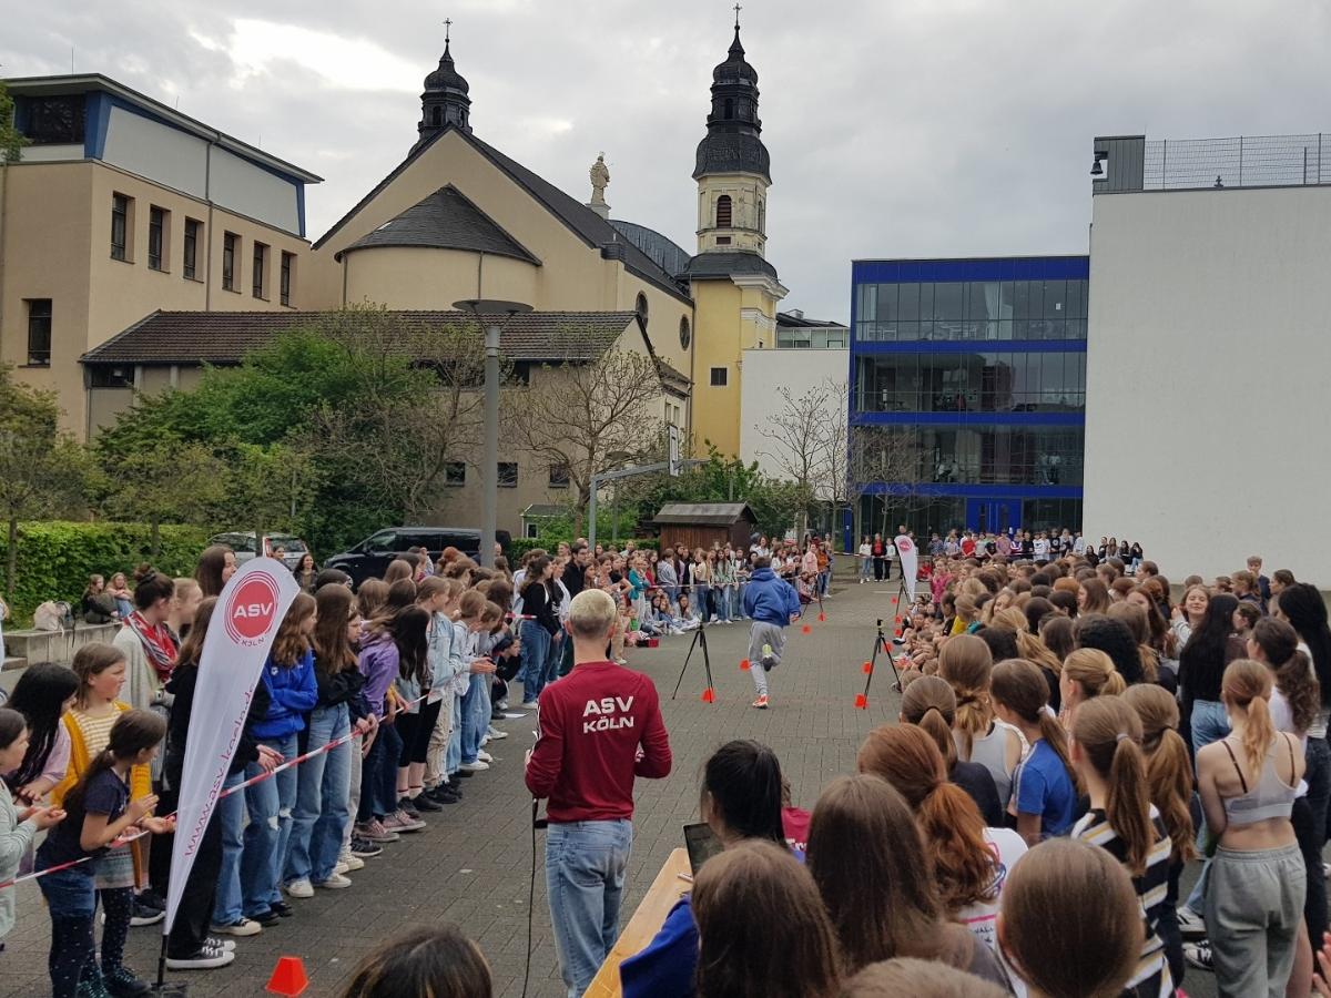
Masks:
[[[37,849],[37,870],[47,872],[37,885],[51,910],[51,993],[56,998],[75,998],[80,978],[88,981],[93,990],[109,979],[117,994],[146,991],[146,985],[118,961],[106,966],[105,953],[102,966],[97,966],[93,874],[97,872],[97,857],[134,825],[157,834],[174,828],[173,820],[149,817],[157,797],[149,794],[129,800],[129,770],[136,765],[148,765],[165,736],[166,721],[158,715],[125,711],[110,729],[105,752],[93,760],[77,786],[65,794],[65,820],[51,829]],[[89,862],[83,862],[89,857]],[[59,869],[65,864],[76,865]],[[108,912],[105,933],[128,930],[128,913],[125,908],[126,923],[118,926],[112,925],[112,913]]]

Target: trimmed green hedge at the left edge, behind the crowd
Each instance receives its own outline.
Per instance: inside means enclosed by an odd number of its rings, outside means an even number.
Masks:
[[[47,600],[68,600],[77,612],[89,575],[104,575],[109,582],[124,572],[132,583],[141,562],[168,575],[193,575],[213,531],[165,524],[158,530],[161,551],[152,558],[152,527],[146,523],[20,523],[13,596],[7,592],[8,579],[0,589],[9,603],[9,625],[28,625],[32,611]],[[8,568],[8,536],[0,530],[0,575]]]

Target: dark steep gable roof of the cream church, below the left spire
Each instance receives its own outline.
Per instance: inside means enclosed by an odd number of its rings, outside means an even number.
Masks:
[[[389,184],[398,178],[407,166],[410,166],[418,156],[425,153],[431,145],[438,142],[447,133],[457,133],[459,138],[470,142],[476,152],[484,156],[490,162],[495,165],[502,173],[504,173],[514,184],[523,188],[531,197],[547,212],[555,216],[560,222],[563,222],[575,236],[578,236],[588,246],[595,246],[600,249],[602,255],[618,255],[623,253],[624,269],[635,277],[660,287],[667,294],[679,298],[683,302],[692,303],[679,285],[675,283],[671,274],[666,273],[658,263],[652,261],[646,253],[643,253],[632,242],[624,240],[615,228],[602,218],[599,214],[592,212],[587,205],[580,201],[575,201],[572,197],[566,194],[563,190],[556,188],[544,177],[534,173],[532,170],[523,166],[516,160],[511,160],[498,149],[495,149],[488,142],[476,138],[475,134],[465,132],[455,128],[454,125],[445,126],[438,134],[431,136],[426,142],[413,149],[411,153],[405,158],[398,166],[379,184],[366,194],[361,201],[342,216],[338,222],[329,229],[319,240],[314,244],[314,249],[318,249],[325,242],[327,242],[347,221],[355,217],[355,214],[365,208],[370,201],[373,201],[379,192],[382,192]],[[615,249],[607,249],[615,248]]]

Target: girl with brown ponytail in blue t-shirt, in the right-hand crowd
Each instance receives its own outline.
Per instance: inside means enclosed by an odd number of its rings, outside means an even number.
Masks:
[[[1062,836],[1077,818],[1077,774],[1067,758],[1067,739],[1049,711],[1049,684],[1040,667],[1025,659],[994,665],[990,696],[998,720],[1021,732],[1030,745],[1012,777],[1008,812],[1028,845]]]

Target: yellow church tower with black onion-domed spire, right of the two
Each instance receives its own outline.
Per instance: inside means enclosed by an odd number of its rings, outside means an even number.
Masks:
[[[740,452],[744,351],[776,346],[776,303],[785,297],[767,261],[771,160],[757,116],[757,72],[735,40],[712,71],[707,134],[697,144],[697,255],[685,275],[693,294],[693,452]],[[755,385],[751,391],[771,391]]]

